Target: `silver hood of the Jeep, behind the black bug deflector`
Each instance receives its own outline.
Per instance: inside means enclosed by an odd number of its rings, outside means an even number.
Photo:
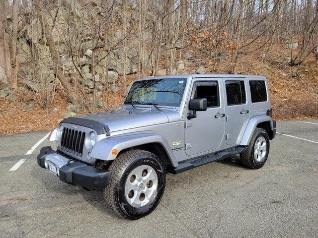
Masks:
[[[108,126],[111,132],[136,127],[149,126],[180,120],[180,115],[172,110],[158,111],[154,108],[117,109],[92,113],[80,118],[95,120]]]

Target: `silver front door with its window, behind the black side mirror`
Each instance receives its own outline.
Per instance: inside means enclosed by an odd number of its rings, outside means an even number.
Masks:
[[[221,89],[221,90],[220,90]],[[195,155],[217,149],[225,131],[225,110],[222,97],[222,79],[197,79],[192,84],[189,101],[207,99],[207,111],[196,112],[197,116],[185,121],[185,152]]]

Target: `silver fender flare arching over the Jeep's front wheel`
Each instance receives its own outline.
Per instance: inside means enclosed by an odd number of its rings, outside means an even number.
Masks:
[[[120,152],[133,146],[149,143],[161,144],[168,155],[171,165],[173,167],[178,165],[178,162],[172,153],[168,142],[163,136],[156,134],[153,131],[125,133],[101,139],[94,146],[90,157],[98,160],[110,161],[116,159],[117,157],[117,155],[112,155],[111,151],[113,149],[116,149],[118,152]]]

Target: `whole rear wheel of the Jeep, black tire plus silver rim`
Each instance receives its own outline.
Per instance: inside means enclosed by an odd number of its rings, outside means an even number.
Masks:
[[[261,168],[268,157],[269,137],[266,130],[256,128],[247,146],[247,149],[240,153],[240,162],[249,169]]]

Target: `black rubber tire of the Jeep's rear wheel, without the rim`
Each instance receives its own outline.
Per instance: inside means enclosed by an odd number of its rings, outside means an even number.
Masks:
[[[265,159],[262,162],[257,162],[254,159],[254,146],[255,146],[255,142],[257,140],[257,138],[259,137],[264,137],[267,143],[267,148],[266,148],[266,155],[265,155]],[[239,154],[240,157],[240,162],[241,164],[248,168],[248,169],[259,169],[261,168],[265,162],[267,161],[267,157],[268,157],[268,153],[269,153],[269,137],[267,132],[263,129],[263,128],[255,128],[254,134],[249,142],[249,145],[247,146],[247,149]]]

